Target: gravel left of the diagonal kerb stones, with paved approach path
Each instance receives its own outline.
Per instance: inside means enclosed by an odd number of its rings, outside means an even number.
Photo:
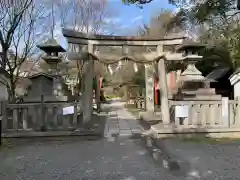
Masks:
[[[117,114],[107,121],[104,139],[36,142],[2,151],[0,179],[179,179],[155,164],[140,138],[132,138],[133,133],[141,132],[141,126],[131,114],[121,104],[111,105]]]

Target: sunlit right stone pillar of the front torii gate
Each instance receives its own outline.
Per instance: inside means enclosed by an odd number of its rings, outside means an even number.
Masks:
[[[158,55],[162,54],[162,45],[157,46]],[[165,59],[161,58],[158,61],[158,72],[159,72],[159,88],[160,88],[160,99],[161,99],[161,115],[163,124],[170,123],[170,113],[168,104],[168,87],[166,77]]]

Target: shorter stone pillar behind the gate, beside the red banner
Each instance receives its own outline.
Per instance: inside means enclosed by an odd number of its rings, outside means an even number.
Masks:
[[[154,112],[153,65],[145,65],[146,110]]]

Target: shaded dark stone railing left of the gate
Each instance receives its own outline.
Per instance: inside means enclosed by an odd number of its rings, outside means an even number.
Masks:
[[[74,129],[80,123],[79,102],[22,103],[1,102],[2,130],[47,131]],[[63,108],[73,106],[73,114],[63,115]]]

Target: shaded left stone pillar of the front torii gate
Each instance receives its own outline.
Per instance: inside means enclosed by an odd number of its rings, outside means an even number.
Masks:
[[[88,44],[88,52],[93,53],[93,45]],[[83,123],[89,122],[92,116],[93,103],[93,77],[94,77],[94,60],[91,55],[86,64],[86,75],[84,79],[84,96],[83,96]]]

